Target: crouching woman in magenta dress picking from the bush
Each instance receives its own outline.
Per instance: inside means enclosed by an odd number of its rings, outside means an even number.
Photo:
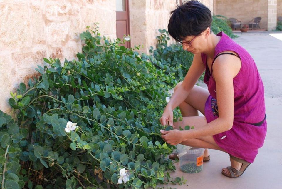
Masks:
[[[251,55],[223,32],[213,34],[211,24],[211,11],[198,1],[172,11],[168,32],[194,58],[160,118],[174,129],[161,133],[171,145],[206,148],[206,161],[208,148],[228,153],[231,166],[221,173],[237,178],[254,162],[266,136],[264,87]],[[204,71],[208,90],[195,85]],[[183,120],[173,122],[177,106]],[[194,129],[179,130],[186,125]]]

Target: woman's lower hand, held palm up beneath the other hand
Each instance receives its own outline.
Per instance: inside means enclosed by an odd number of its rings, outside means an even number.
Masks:
[[[173,129],[169,131],[160,130],[161,137],[164,139],[164,141],[170,145],[177,145],[184,141],[183,139],[183,132],[178,129]]]

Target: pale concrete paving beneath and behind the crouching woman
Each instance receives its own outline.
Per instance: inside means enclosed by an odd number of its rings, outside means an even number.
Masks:
[[[264,83],[268,123],[265,143],[259,149],[254,163],[239,178],[227,178],[221,174],[222,168],[230,166],[228,154],[209,150],[211,160],[204,162],[203,171],[200,173],[183,173],[179,170],[179,163],[175,163],[176,171],[170,175],[173,178],[183,176],[187,182],[182,186],[170,184],[168,187],[282,188],[282,33],[260,31],[236,35],[239,35],[239,38],[234,41],[254,58]]]

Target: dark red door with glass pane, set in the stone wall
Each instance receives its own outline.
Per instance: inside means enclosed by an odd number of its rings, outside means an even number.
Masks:
[[[130,35],[128,0],[116,0],[117,16],[117,38],[122,39],[123,35]],[[130,48],[130,41],[125,43]]]

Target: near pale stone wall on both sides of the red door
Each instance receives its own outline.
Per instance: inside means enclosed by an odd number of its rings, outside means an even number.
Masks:
[[[131,46],[155,47],[158,29],[167,29],[172,0],[129,0]],[[211,10],[213,0],[202,0]],[[177,0],[179,4],[179,0]],[[9,111],[10,91],[39,76],[43,58],[73,60],[79,34],[99,22],[102,36],[116,38],[115,0],[0,0],[0,110]],[[173,42],[171,39],[169,43]]]

